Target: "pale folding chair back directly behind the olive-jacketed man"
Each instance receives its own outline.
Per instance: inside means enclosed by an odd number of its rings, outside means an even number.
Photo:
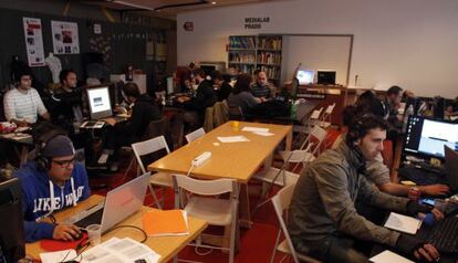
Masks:
[[[287,243],[290,246],[291,254],[293,256],[294,262],[299,263],[298,254],[295,253],[294,246],[292,244],[290,233],[288,232],[287,224],[283,220],[283,213],[285,210],[290,208],[292,194],[294,192],[295,185],[289,185],[283,187],[273,198],[273,209],[275,210],[277,218],[280,222],[281,231],[284,233],[284,238],[287,239]]]

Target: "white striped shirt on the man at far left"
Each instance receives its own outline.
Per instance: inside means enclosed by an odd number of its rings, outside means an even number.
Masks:
[[[37,90],[31,87],[27,93],[18,88],[11,90],[3,97],[4,117],[7,120],[18,119],[37,123],[38,115],[48,113]]]

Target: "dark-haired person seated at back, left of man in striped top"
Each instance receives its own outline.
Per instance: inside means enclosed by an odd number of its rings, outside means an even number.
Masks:
[[[264,98],[253,96],[250,91],[251,76],[248,74],[240,74],[237,76],[236,85],[228,97],[229,106],[238,106],[243,114],[250,112],[256,105],[264,102]]]

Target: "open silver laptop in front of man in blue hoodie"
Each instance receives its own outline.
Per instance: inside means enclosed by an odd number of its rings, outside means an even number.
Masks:
[[[102,233],[106,232],[131,214],[139,211],[149,183],[150,172],[146,172],[116,189],[111,190],[105,201],[91,208],[87,213],[74,224],[86,228],[90,224],[101,224]]]

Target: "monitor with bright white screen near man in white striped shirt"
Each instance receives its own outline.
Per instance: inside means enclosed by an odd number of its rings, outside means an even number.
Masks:
[[[113,115],[108,86],[87,88],[86,91],[92,119]]]

